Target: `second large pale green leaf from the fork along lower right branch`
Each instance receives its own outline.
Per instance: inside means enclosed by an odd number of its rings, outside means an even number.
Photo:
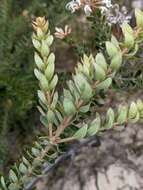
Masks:
[[[97,113],[96,119],[92,121],[92,123],[90,124],[88,128],[88,135],[89,136],[95,135],[99,131],[100,127],[101,127],[101,119],[100,119],[100,115]]]

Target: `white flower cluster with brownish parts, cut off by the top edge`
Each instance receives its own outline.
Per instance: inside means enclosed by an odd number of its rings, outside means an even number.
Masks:
[[[101,9],[102,12],[106,12],[110,7],[112,7],[111,0],[71,0],[66,5],[66,8],[72,13],[83,8],[87,16],[97,8]]]

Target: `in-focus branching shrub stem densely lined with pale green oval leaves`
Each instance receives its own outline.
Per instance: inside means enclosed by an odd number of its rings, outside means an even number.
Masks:
[[[108,108],[105,117],[96,113],[94,119],[77,127],[81,116],[86,117],[90,112],[95,97],[98,101],[97,95],[101,91],[106,93],[112,87],[112,81],[123,60],[132,59],[139,49],[143,40],[143,12],[136,10],[135,15],[135,28],[127,23],[122,25],[123,41],[118,42],[112,36],[106,42],[105,55],[100,52],[95,57],[92,54],[83,56],[61,94],[56,89],[58,75],[55,73],[55,55],[50,51],[53,36],[49,23],[44,17],[38,17],[33,22],[35,32],[32,41],[36,49],[34,73],[40,87],[38,109],[47,136],[40,137],[34,143],[32,149],[27,151],[27,156],[23,156],[21,162],[10,170],[7,180],[1,177],[2,190],[36,189],[36,181],[33,181],[36,180],[35,176],[44,175],[47,164],[55,163],[65,149],[61,145],[95,137],[106,130],[126,126],[129,122],[136,123],[143,118],[143,101],[138,99],[130,105],[121,104],[115,110]]]

